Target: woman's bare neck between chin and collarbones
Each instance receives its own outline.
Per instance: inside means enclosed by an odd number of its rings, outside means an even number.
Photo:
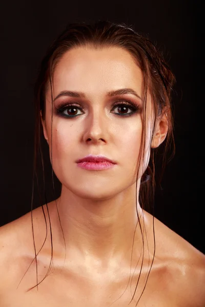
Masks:
[[[63,186],[60,197],[50,203],[57,250],[65,249],[61,223],[69,253],[100,261],[125,257],[134,236],[135,242],[141,242],[140,228],[136,226],[143,211],[137,200],[136,184],[106,200],[81,199]]]

